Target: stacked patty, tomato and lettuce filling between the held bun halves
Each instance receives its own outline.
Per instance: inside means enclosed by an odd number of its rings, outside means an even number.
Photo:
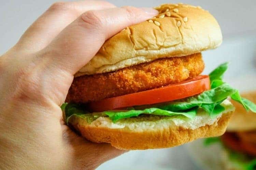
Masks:
[[[155,117],[156,120],[165,119],[175,125],[183,122],[186,128],[193,129],[214,124],[222,114],[233,111],[232,104],[227,101],[229,97],[242,104],[247,111],[256,113],[254,103],[242,98],[237,89],[222,80],[227,66],[224,63],[209,76],[195,80],[204,67],[199,53],[75,78],[67,97],[70,103],[62,105],[66,123],[72,117],[79,117],[89,124],[113,123],[113,127],[121,128],[126,126],[126,121],[136,122],[147,117],[153,120],[152,117]],[[81,84],[76,84],[81,82],[85,89],[81,88]],[[173,87],[175,91],[170,90]],[[158,90],[159,95],[147,89]],[[201,91],[198,92],[198,89]],[[155,95],[150,96],[153,92]],[[136,104],[137,101],[140,104]],[[191,122],[195,126],[191,126]]]

